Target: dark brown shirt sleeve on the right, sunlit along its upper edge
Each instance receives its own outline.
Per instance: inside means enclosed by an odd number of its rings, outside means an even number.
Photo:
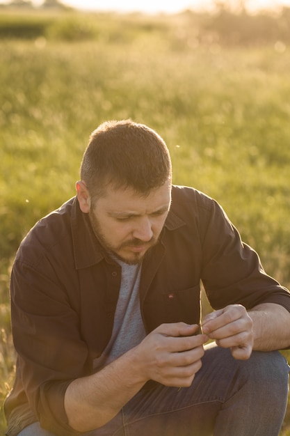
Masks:
[[[211,201],[203,227],[202,282],[214,309],[276,303],[290,311],[290,293],[268,276],[257,252],[241,240],[223,208]]]

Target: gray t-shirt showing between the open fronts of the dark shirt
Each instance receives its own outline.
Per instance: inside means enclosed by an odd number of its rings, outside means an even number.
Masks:
[[[122,267],[120,293],[111,339],[102,355],[94,361],[94,369],[98,371],[134,348],[146,336],[138,292],[142,265],[128,265],[121,260],[115,260]]]

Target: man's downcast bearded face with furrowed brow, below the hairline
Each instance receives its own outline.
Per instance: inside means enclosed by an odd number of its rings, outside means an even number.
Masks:
[[[108,187],[90,209],[92,228],[107,251],[126,263],[138,263],[156,244],[170,201],[170,182],[146,197],[132,188]]]

